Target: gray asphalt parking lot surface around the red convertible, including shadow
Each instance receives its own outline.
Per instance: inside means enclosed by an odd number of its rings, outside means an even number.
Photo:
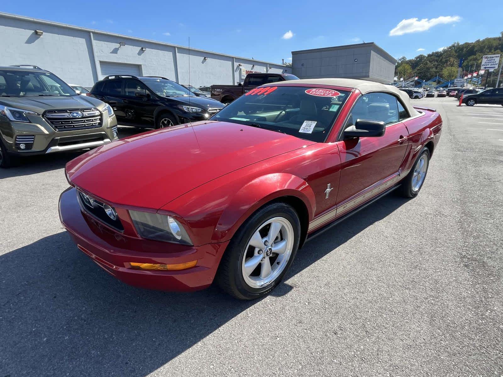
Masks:
[[[255,302],[99,268],[58,219],[76,153],[0,171],[0,376],[502,375],[503,107],[413,103],[444,119],[420,195],[307,243]]]

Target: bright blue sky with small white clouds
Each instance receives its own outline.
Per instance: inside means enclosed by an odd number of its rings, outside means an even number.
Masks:
[[[4,0],[0,11],[184,46],[190,36],[194,48],[271,62],[287,61],[295,50],[362,41],[375,42],[396,58],[411,58],[503,31],[497,20],[503,2],[492,2],[486,13],[484,6],[475,11],[454,0]]]

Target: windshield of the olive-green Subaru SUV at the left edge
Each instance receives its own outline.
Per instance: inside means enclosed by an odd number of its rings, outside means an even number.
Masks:
[[[0,69],[0,96],[77,96],[75,90],[49,72]]]

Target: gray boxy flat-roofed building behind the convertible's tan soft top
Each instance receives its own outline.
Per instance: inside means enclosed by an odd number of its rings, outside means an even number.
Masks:
[[[373,42],[292,51],[292,73],[299,78],[360,78],[393,82],[396,59]]]

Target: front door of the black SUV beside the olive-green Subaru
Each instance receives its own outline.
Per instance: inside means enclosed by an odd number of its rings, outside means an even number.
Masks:
[[[155,97],[138,80],[124,79],[124,114],[128,123],[139,127],[154,126]]]

